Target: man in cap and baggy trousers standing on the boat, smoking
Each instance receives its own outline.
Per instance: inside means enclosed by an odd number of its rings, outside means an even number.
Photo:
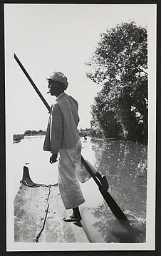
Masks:
[[[85,202],[76,175],[76,166],[81,164],[81,140],[78,133],[78,102],[64,91],[68,87],[66,76],[53,72],[47,78],[51,96],[56,103],[51,106],[43,150],[51,151],[50,163],[58,157],[58,185],[66,209],[73,209],[73,215],[64,221],[80,221],[79,205]],[[59,153],[59,154],[58,154]]]

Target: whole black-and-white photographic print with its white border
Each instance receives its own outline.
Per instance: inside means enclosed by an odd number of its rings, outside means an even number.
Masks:
[[[6,250],[155,250],[156,4],[4,4]]]

